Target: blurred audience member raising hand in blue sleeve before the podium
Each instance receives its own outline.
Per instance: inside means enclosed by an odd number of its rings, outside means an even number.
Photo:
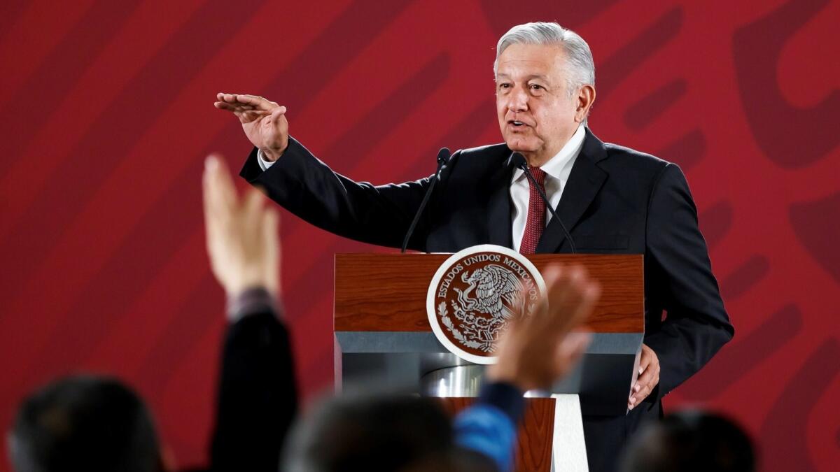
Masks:
[[[599,295],[582,268],[555,266],[544,275],[549,288],[538,312],[512,323],[479,398],[454,422],[430,398],[335,398],[293,430],[284,470],[511,469],[523,393],[549,387],[574,367],[590,337],[571,331]]]

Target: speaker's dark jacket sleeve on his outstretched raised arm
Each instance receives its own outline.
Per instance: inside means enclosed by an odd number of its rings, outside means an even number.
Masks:
[[[399,248],[429,179],[374,186],[356,182],[318,160],[296,139],[280,159],[263,171],[253,149],[240,172],[253,185],[298,217],[331,233],[369,244]],[[424,250],[425,218],[418,223],[411,249]]]

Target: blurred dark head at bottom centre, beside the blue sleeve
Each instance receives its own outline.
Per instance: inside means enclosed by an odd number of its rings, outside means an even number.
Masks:
[[[449,416],[416,396],[339,396],[293,428],[282,470],[370,472],[493,470],[484,456],[456,448]]]

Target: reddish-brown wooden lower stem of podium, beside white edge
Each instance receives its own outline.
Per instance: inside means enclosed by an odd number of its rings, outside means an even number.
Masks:
[[[440,398],[444,409],[454,416],[475,398]],[[551,443],[554,437],[554,398],[526,398],[525,413],[517,431],[515,470],[551,470]]]

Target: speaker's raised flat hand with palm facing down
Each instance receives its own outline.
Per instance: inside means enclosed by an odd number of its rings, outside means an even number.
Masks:
[[[255,95],[218,93],[213,105],[234,113],[251,144],[263,151],[265,160],[277,160],[289,145],[286,107]]]

